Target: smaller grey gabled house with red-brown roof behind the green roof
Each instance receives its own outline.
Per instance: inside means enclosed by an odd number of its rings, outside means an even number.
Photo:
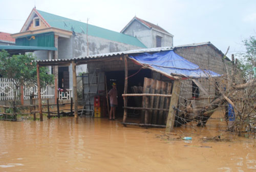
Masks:
[[[121,30],[121,33],[137,37],[147,48],[174,46],[174,35],[136,16]]]

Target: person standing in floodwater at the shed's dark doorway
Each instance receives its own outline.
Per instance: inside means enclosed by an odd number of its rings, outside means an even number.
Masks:
[[[108,93],[108,95],[110,96],[110,106],[111,106],[109,120],[115,120],[116,107],[117,107],[117,90],[116,90],[115,82],[112,83],[112,87],[113,88]],[[112,117],[112,113],[113,113],[113,117]]]

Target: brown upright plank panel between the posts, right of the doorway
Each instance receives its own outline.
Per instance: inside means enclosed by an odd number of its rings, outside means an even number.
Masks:
[[[144,78],[143,93],[171,94],[172,83],[163,82],[151,78]],[[147,107],[157,109],[169,109],[170,97],[151,96],[148,98]],[[146,96],[142,99],[143,107],[146,107]],[[145,111],[141,112],[140,123],[145,123]],[[148,111],[148,124],[165,125],[168,112],[151,110]]]

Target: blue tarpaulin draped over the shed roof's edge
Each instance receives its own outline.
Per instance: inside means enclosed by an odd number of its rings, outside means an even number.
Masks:
[[[173,50],[162,51],[154,54],[143,53],[136,56],[129,56],[137,63],[166,76],[181,76],[185,78],[216,77],[221,76],[210,70],[201,70],[199,66],[186,60]]]

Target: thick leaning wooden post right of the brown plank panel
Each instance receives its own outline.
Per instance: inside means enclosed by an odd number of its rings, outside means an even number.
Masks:
[[[174,128],[174,120],[176,111],[173,109],[173,106],[177,107],[180,95],[180,80],[174,80],[174,88],[172,92],[172,98],[170,100],[169,112],[166,122],[165,132],[171,132]]]

